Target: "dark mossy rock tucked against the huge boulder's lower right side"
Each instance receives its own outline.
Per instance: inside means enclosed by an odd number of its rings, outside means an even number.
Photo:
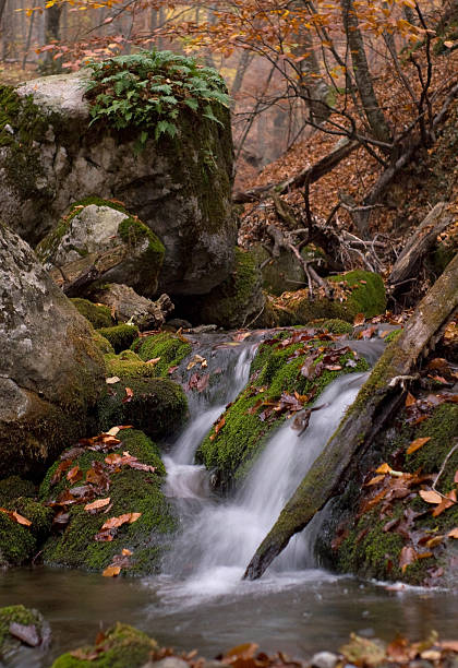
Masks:
[[[255,257],[234,249],[234,269],[224,283],[193,303],[191,315],[200,322],[231,329],[249,324],[264,307],[262,276]]]

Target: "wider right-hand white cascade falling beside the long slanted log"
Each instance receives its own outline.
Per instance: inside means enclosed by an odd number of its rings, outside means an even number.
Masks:
[[[193,506],[184,518],[185,528],[168,560],[170,575],[184,580],[181,594],[212,596],[238,585],[253,552],[323,450],[366,378],[366,373],[347,374],[329,384],[317,401],[317,404],[327,406],[312,413],[309,428],[302,436],[297,436],[289,421],[282,425],[268,441],[233,499],[217,502],[201,497],[200,504]],[[212,415],[216,415],[216,410]],[[209,418],[207,428],[208,425]],[[192,448],[185,442],[186,439],[188,432],[177,448],[186,449],[189,457]],[[195,441],[195,448],[197,445]],[[180,457],[180,454],[177,452],[176,456]],[[192,474],[195,468],[189,466],[188,473]],[[170,491],[180,496],[182,489],[177,488],[176,484],[171,478]],[[303,533],[291,540],[276,569],[285,571],[311,564],[306,533]]]

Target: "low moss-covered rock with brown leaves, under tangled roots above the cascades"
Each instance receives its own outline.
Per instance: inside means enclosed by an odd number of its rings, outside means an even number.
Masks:
[[[329,276],[330,288],[336,284],[333,298],[309,299],[309,290],[285,293],[270,300],[270,307],[280,325],[305,324],[316,319],[339,319],[353,322],[357,313],[372,318],[386,309],[385,286],[382,277],[361,270]]]

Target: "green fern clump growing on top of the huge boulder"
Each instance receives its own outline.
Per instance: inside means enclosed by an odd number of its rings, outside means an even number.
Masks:
[[[92,122],[105,119],[117,130],[137,128],[140,148],[149,136],[173,138],[183,110],[220,123],[217,107],[229,107],[225,81],[216,70],[171,51],[140,51],[87,67]]]

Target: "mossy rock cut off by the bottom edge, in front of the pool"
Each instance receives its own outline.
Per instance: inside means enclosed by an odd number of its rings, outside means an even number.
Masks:
[[[94,645],[62,654],[51,668],[140,668],[156,648],[146,633],[118,622]]]

